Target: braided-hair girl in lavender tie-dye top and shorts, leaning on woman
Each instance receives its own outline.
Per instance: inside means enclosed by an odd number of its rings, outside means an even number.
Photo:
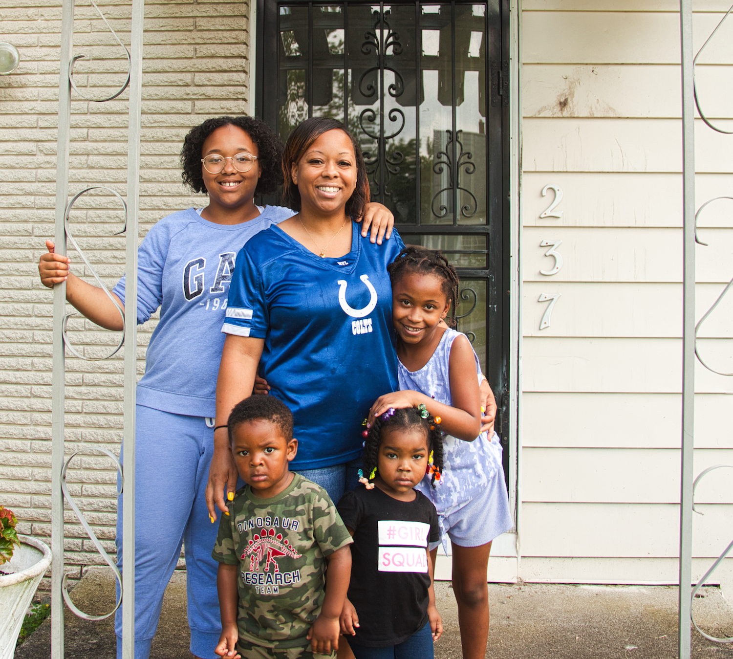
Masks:
[[[379,397],[369,422],[389,408],[423,406],[445,432],[444,471],[416,487],[435,504],[441,539],[452,542],[453,592],[465,659],[483,659],[489,632],[486,569],[491,542],[512,528],[501,443],[481,427],[479,360],[455,324],[458,276],[439,251],[409,246],[388,266],[402,391]],[[432,543],[432,562],[439,542]]]

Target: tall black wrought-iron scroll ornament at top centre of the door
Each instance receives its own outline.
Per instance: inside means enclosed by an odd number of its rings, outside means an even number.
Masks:
[[[394,32],[389,26],[389,22],[385,18],[385,12],[375,11],[374,29],[371,32],[364,32],[364,42],[361,43],[361,52],[364,55],[375,54],[377,64],[361,74],[359,78],[358,89],[365,98],[372,98],[380,92],[374,84],[369,82],[369,76],[377,71],[380,76],[380,85],[383,84],[384,72],[390,71],[394,74],[394,82],[387,87],[387,93],[392,98],[402,96],[405,91],[405,81],[399,74],[399,71],[387,63],[387,51],[391,48],[393,55],[402,53],[402,44],[399,43],[399,33]],[[379,95],[380,111],[379,126],[377,130],[377,112],[373,108],[365,108],[359,114],[359,128],[367,137],[377,142],[376,152],[365,150],[364,164],[367,166],[367,177],[374,186],[375,196],[391,196],[388,191],[388,185],[393,175],[400,172],[399,166],[405,161],[405,154],[401,151],[395,151],[390,157],[387,154],[387,141],[394,139],[402,133],[405,128],[405,113],[399,108],[392,108],[387,118],[394,124],[387,132],[384,120],[384,97],[383,93]],[[380,173],[380,169],[383,172]]]

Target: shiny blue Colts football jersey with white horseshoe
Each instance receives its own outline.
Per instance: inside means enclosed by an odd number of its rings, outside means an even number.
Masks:
[[[375,245],[351,229],[351,251],[336,259],[274,226],[237,254],[221,331],[265,339],[259,375],[295,417],[293,468],[359,457],[361,421],[398,389],[387,265],[404,244],[397,232]]]

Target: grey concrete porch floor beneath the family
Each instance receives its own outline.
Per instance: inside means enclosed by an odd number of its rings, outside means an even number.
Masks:
[[[695,601],[699,623],[713,636],[733,636],[733,606],[721,589],[706,588]],[[114,603],[110,570],[90,569],[72,597],[82,611],[101,614]],[[435,658],[460,658],[460,633],[449,583],[436,583],[438,610],[446,631]],[[667,586],[567,586],[489,584],[492,659],[677,657],[677,589]],[[66,659],[114,659],[111,619],[86,622],[65,615]],[[733,644],[707,641],[692,631],[693,658],[733,658]],[[166,590],[151,659],[188,659],[185,573],[176,572]],[[15,652],[15,659],[50,659],[51,619]]]

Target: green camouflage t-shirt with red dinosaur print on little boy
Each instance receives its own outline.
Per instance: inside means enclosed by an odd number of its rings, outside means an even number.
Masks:
[[[299,474],[272,498],[246,485],[228,507],[211,555],[240,566],[240,638],[306,646],[325,596],[325,557],[352,542],[336,507],[323,487]]]

